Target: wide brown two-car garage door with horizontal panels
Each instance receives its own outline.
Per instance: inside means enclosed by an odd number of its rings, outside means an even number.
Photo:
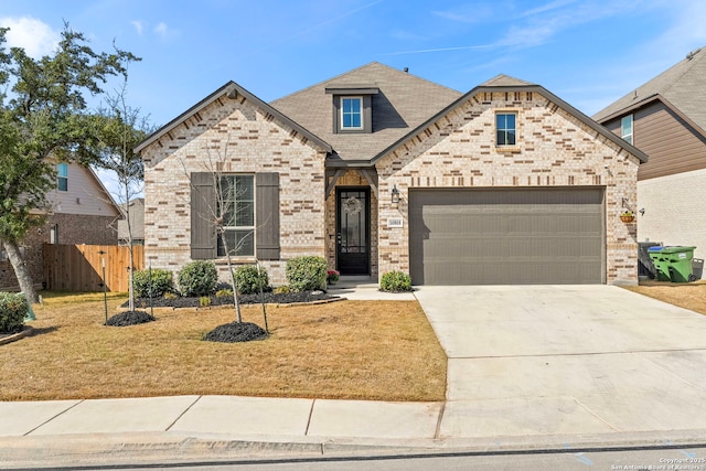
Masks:
[[[415,285],[605,282],[602,189],[410,190]]]

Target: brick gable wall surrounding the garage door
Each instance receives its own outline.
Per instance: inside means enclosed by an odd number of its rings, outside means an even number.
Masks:
[[[496,111],[517,113],[517,146],[495,148]],[[410,188],[602,186],[606,189],[606,279],[637,282],[638,159],[538,93],[484,93],[457,107],[376,163],[379,194],[402,192],[398,208],[378,202],[378,220],[407,220]],[[409,272],[408,221],[379,227],[379,272]]]

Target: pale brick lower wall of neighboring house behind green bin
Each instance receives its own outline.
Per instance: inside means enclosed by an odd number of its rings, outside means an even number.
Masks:
[[[696,246],[694,257],[706,258],[706,170],[638,182],[638,238],[664,245]]]

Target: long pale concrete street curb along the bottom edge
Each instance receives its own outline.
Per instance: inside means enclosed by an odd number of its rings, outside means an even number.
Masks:
[[[577,453],[706,446],[706,430],[666,430],[602,435],[379,439],[192,435],[181,432],[82,433],[0,437],[3,469],[71,467],[79,462],[242,463],[343,458]]]

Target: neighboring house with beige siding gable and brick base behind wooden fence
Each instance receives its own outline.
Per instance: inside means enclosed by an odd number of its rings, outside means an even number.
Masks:
[[[32,280],[44,279],[43,244],[116,245],[118,207],[93,170],[58,163],[56,190],[47,194],[52,211],[46,224],[34,227],[21,244]],[[0,290],[14,290],[18,281],[4,251],[0,251]]]

